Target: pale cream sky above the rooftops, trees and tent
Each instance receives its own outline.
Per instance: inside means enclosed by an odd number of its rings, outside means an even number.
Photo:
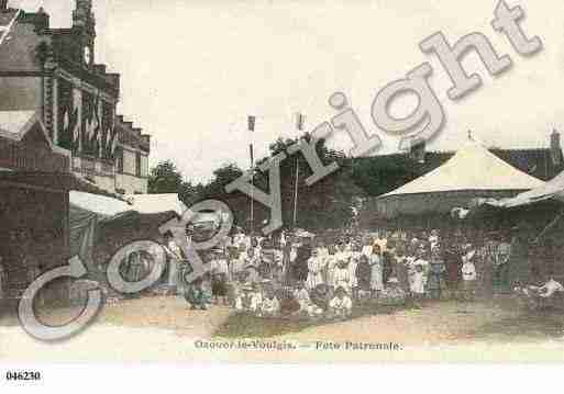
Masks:
[[[497,0],[95,0],[96,59],[121,72],[120,112],[152,135],[152,165],[172,159],[192,181],[222,164],[248,166],[247,114],[258,117],[257,157],[278,136],[297,135],[297,111],[308,130],[334,116],[328,99],[335,91],[376,132],[376,93],[423,61],[447,117],[432,149],[456,149],[467,130],[489,146],[543,147],[553,127],[564,131],[564,2],[507,2],[523,8],[521,26],[540,36],[542,52],[523,58],[493,30]],[[74,3],[10,1],[27,11],[43,4],[53,26],[70,25]],[[439,60],[418,47],[436,31],[451,44],[479,31],[513,66],[493,79],[471,54],[466,69],[484,85],[453,102]],[[392,111],[416,104],[406,98]],[[378,154],[395,151],[397,138],[378,133]],[[350,147],[339,133],[331,144]]]

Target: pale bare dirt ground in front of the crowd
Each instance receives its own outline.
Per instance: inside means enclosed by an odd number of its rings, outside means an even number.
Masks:
[[[70,308],[42,311],[40,317],[46,324],[59,325],[76,313],[77,309]],[[312,347],[319,350],[314,345],[318,342],[394,342],[400,349],[419,349],[419,352],[429,354],[433,353],[429,349],[451,347],[462,352],[469,351],[472,361],[485,357],[484,351],[476,352],[480,348],[491,351],[494,359],[508,350],[522,357],[522,350],[529,349],[531,358],[535,351],[542,351],[542,360],[562,361],[563,338],[562,312],[530,313],[502,299],[487,303],[429,303],[421,309],[378,307],[361,311],[346,322],[316,323],[256,318],[236,314],[224,306],[191,311],[180,297],[156,296],[106,305],[97,320],[82,334],[53,345],[33,340],[23,333],[14,316],[4,315],[0,317],[0,360],[239,360],[240,357],[247,357],[243,354],[245,352],[201,350],[197,340],[228,344],[259,339],[263,342],[292,342],[298,347],[299,344],[313,344],[307,350]],[[48,352],[44,352],[45,349]],[[262,353],[258,360],[275,357],[266,356],[264,351]],[[313,359],[327,358],[322,352],[308,354]],[[367,353],[357,356],[363,359]],[[351,354],[341,353],[340,357],[355,360]],[[292,359],[294,354],[289,360]],[[420,358],[417,352],[403,351],[391,357],[388,354],[385,359],[402,361]]]

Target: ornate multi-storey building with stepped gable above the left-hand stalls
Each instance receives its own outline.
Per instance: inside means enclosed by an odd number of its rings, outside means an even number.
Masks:
[[[120,75],[96,63],[92,0],[76,0],[69,29],[0,0],[0,111],[36,113],[69,171],[98,188],[146,193],[151,139],[117,115]]]

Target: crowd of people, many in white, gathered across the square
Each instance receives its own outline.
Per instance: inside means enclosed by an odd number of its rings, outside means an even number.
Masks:
[[[180,278],[192,308],[218,303],[264,317],[346,318],[358,306],[472,302],[491,297],[495,282],[522,282],[519,247],[508,235],[471,240],[433,229],[274,238],[239,230],[204,256],[208,274],[193,283],[183,283],[189,262],[174,240],[168,245],[180,267],[170,278]]]

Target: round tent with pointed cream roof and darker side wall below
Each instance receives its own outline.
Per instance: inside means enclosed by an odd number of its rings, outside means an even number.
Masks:
[[[468,140],[444,165],[377,198],[386,217],[447,214],[475,198],[508,198],[540,188],[543,181],[499,159],[480,144]]]

